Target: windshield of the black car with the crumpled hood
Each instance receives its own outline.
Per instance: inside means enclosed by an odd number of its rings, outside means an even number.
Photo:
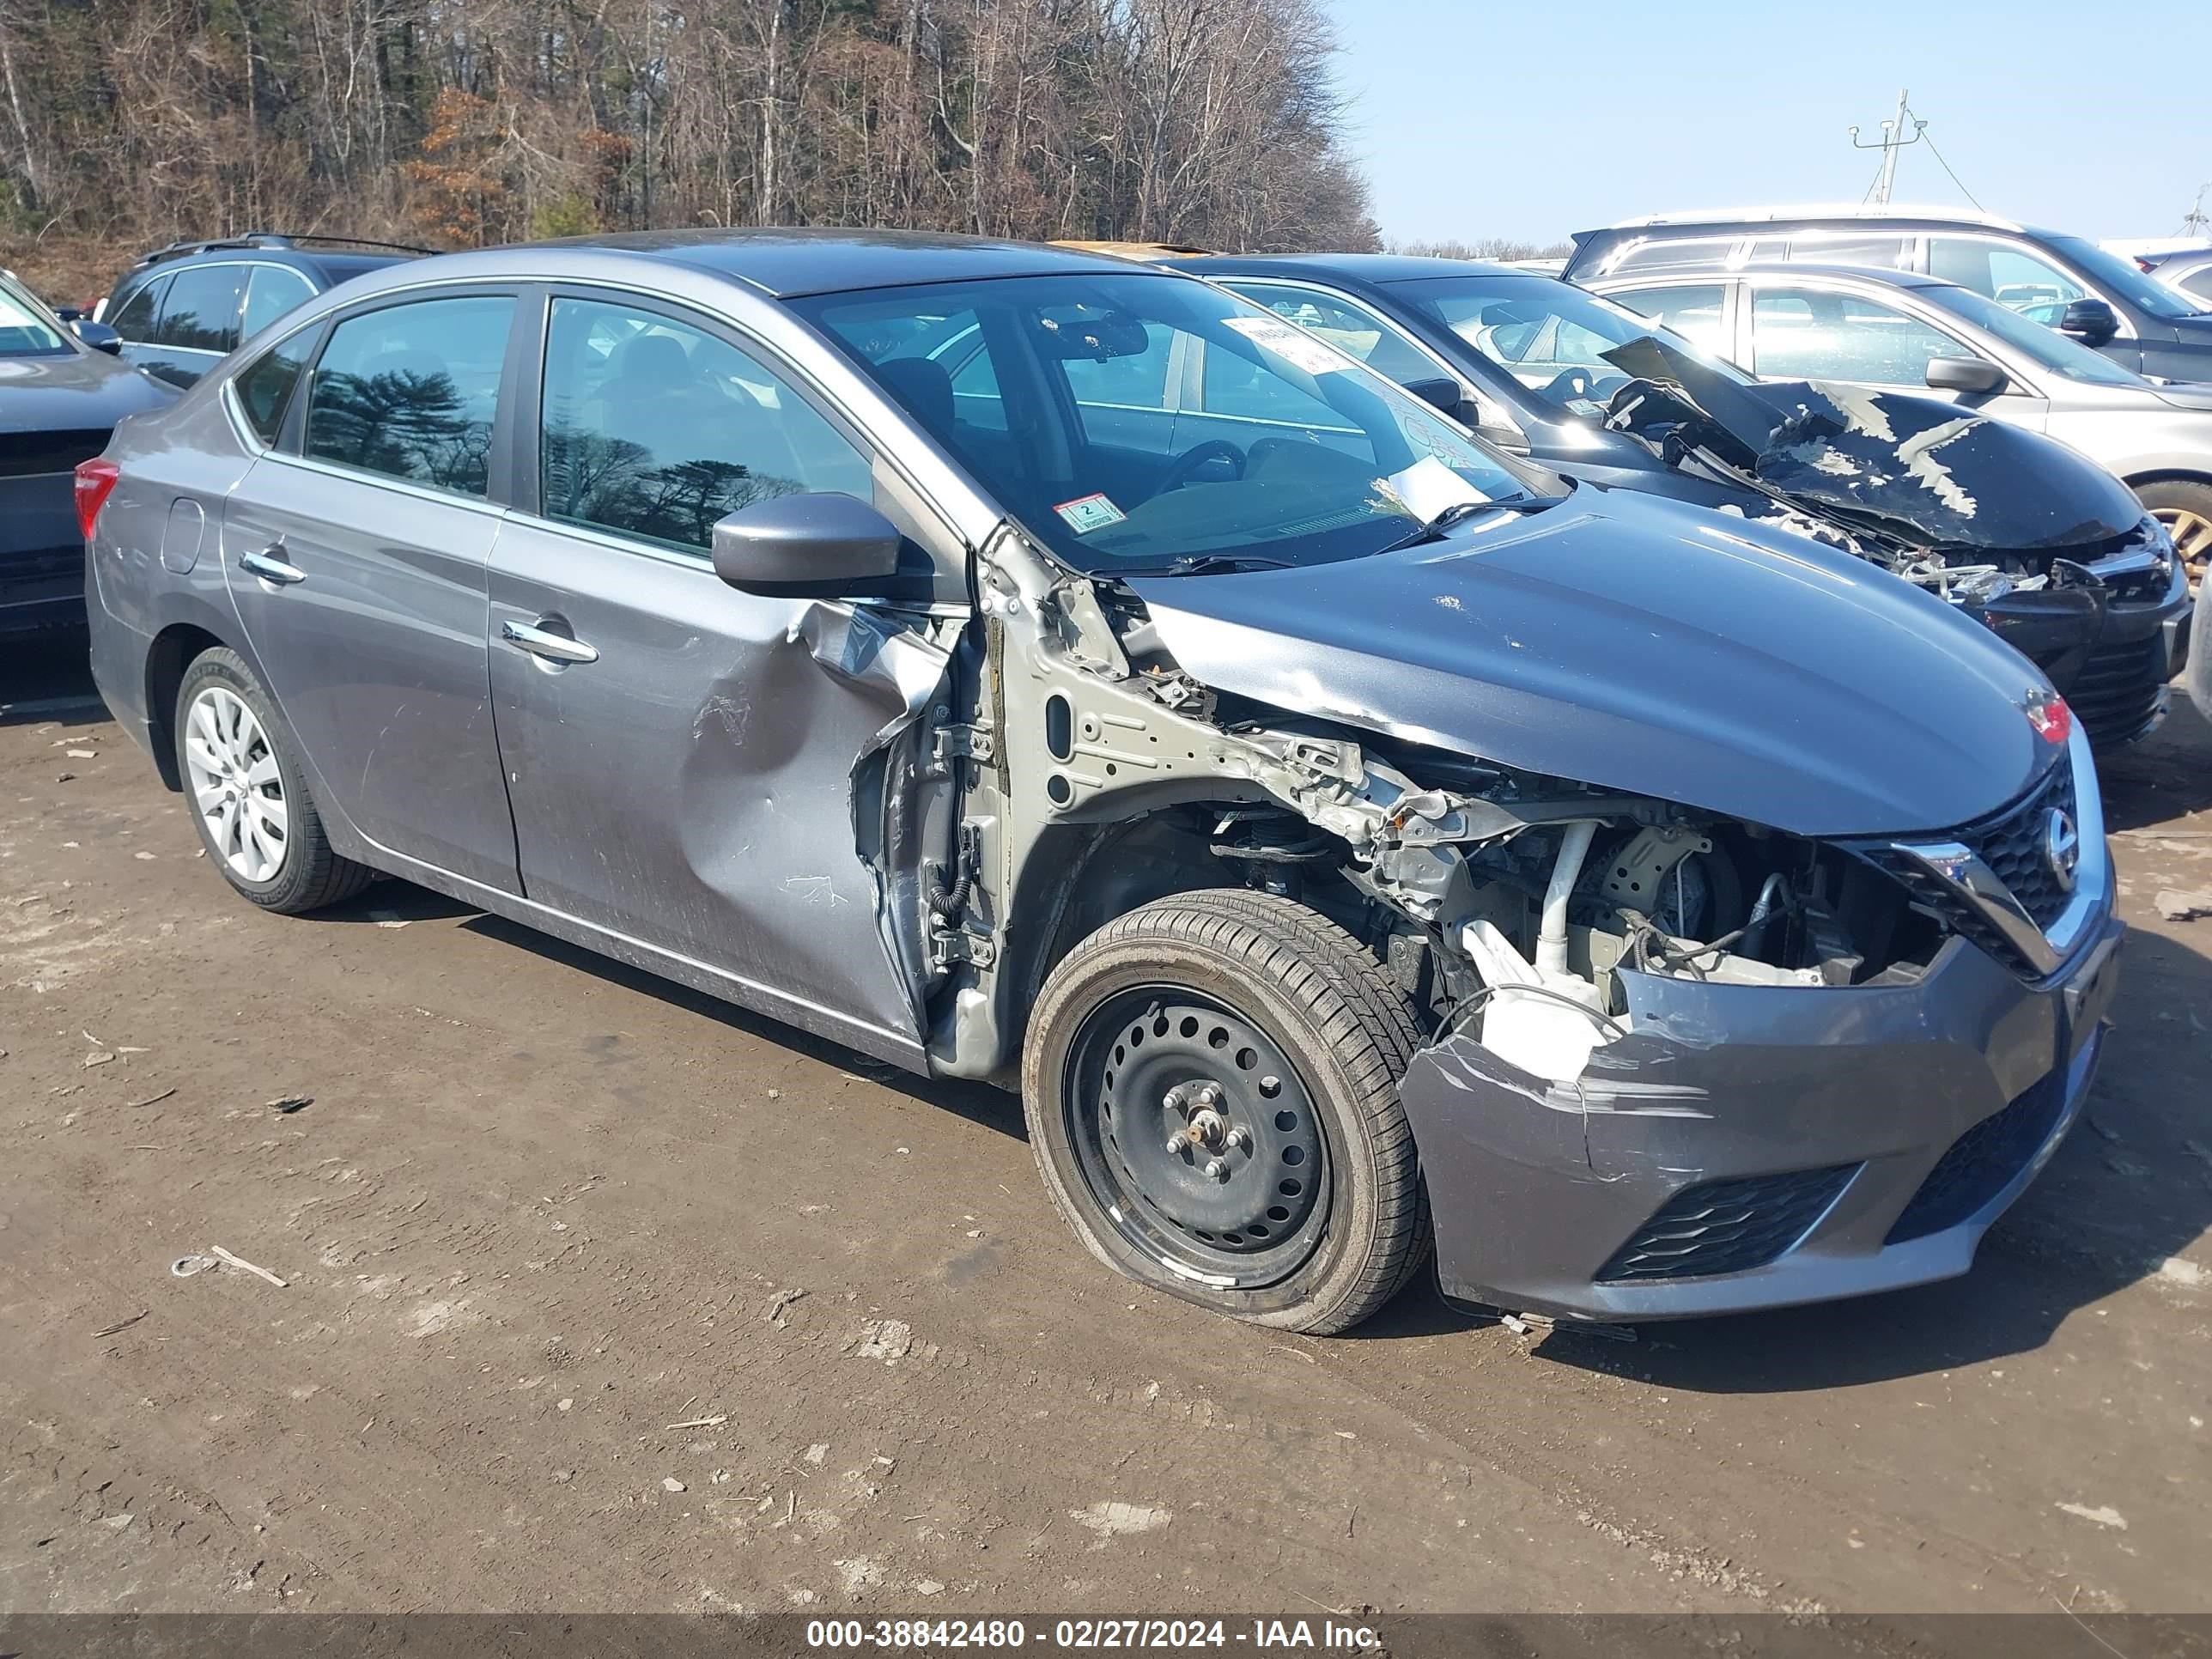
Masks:
[[[1747,374],[1681,334],[1548,276],[1427,276],[1394,283],[1391,292],[1506,369],[1540,403],[1584,420],[1604,420],[1608,398],[1628,385],[1606,352],[1646,336],[1750,385]]]

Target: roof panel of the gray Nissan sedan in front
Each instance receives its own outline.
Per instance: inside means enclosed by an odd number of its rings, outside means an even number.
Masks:
[[[635,230],[604,237],[564,237],[531,248],[604,250],[659,259],[759,288],[776,299],[834,294],[854,288],[958,283],[984,276],[1121,274],[1126,259],[1033,241],[991,241],[929,230]]]

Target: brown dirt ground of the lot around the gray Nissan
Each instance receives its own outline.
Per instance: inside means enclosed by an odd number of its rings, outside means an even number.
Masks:
[[[1301,1340],[1097,1267],[1009,1097],[398,883],[257,914],[11,650],[0,1608],[2212,1608],[2194,712],[2108,816],[2119,1029],[1971,1276]]]

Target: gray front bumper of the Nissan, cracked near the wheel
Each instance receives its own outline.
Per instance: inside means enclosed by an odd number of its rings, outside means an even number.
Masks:
[[[1451,1035],[1398,1095],[1447,1296],[1644,1321],[1966,1272],[2073,1128],[2121,922],[2084,734],[2077,887],[2042,978],[1953,936],[1911,984],[1723,984],[1615,969],[1628,1035],[1555,1084]],[[1960,832],[1964,834],[1964,832]]]

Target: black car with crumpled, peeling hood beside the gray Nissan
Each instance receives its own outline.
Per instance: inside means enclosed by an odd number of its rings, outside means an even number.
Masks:
[[[1756,383],[1694,338],[1568,283],[1391,254],[1166,261],[1265,305],[1573,478],[1763,518],[1960,606],[2066,692],[2104,752],[2150,732],[2188,637],[2172,538],[2062,442],[1942,398]],[[1688,338],[1686,338],[1688,334]],[[2168,626],[2172,624],[2172,626]]]

